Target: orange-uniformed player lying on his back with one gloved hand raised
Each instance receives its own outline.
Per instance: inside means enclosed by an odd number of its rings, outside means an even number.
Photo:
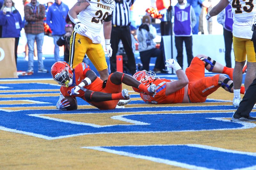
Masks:
[[[140,94],[142,100],[147,103],[169,104],[169,103],[198,103],[205,102],[208,95],[223,87],[228,92],[233,92],[233,81],[224,75],[217,74],[212,77],[204,76],[204,68],[214,73],[227,74],[233,78],[233,69],[225,67],[205,55],[197,55],[193,58],[186,73],[181,69],[178,62],[173,59],[165,61],[166,66],[176,71],[178,80],[168,80],[150,76],[147,71],[139,71],[133,75],[145,85],[157,85],[154,97]],[[137,92],[139,89],[133,88]],[[241,87],[244,94],[244,87]]]

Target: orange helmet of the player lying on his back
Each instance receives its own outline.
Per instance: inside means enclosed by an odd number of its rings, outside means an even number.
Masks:
[[[143,83],[146,86],[150,86],[156,78],[156,73],[153,71],[142,70],[136,72],[133,76],[136,80]],[[135,92],[143,93],[138,88],[132,87]]]

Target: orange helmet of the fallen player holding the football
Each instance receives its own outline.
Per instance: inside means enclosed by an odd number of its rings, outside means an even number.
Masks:
[[[52,65],[51,74],[54,81],[64,87],[72,85],[72,68],[66,62],[56,62]]]

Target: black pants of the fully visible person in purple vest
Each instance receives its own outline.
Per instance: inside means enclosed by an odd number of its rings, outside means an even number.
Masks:
[[[187,59],[188,59],[188,67],[194,58],[192,52],[192,36],[175,36],[175,46],[177,49],[177,62],[180,64],[180,67],[183,68],[183,41],[185,42]]]

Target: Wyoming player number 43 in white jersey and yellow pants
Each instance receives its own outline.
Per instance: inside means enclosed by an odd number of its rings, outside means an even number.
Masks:
[[[234,68],[234,98],[233,105],[239,106],[241,101],[240,88],[242,84],[242,70],[246,62],[247,55],[247,72],[244,81],[245,91],[255,78],[256,59],[253,48],[252,24],[256,16],[256,0],[220,0],[219,4],[207,13],[206,19],[212,21],[212,16],[218,15],[228,4],[232,6],[233,13],[233,47],[235,54]]]

